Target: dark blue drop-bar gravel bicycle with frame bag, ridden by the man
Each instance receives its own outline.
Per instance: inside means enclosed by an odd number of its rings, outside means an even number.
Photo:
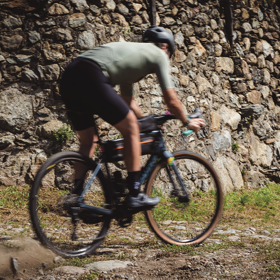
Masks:
[[[200,113],[197,108],[189,118],[198,118]],[[221,217],[220,181],[203,156],[188,150],[166,150],[161,125],[176,119],[174,115],[153,119],[158,125],[156,130],[140,134],[142,154],[150,154],[140,182],[147,195],[161,200],[145,211],[147,222],[169,244],[198,244],[210,236]],[[126,227],[133,214],[139,212],[123,203],[128,191],[122,171],[114,170],[114,163],[122,160],[123,139],[100,142],[99,146],[104,152],[96,161],[79,152],[59,152],[35,176],[30,193],[35,233],[44,245],[64,257],[92,254],[104,240],[111,219]],[[71,194],[77,163],[88,170],[80,196]]]

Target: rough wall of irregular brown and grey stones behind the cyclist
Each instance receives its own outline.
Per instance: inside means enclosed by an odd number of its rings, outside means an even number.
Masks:
[[[186,112],[200,107],[208,124],[183,138],[180,122],[169,121],[167,145],[203,154],[227,191],[280,176],[279,7],[233,2],[231,50],[218,1],[156,1],[157,25],[170,29],[177,44],[170,60],[175,89]],[[30,184],[51,154],[78,149],[77,136],[63,145],[53,139],[68,122],[59,96],[63,70],[86,49],[140,42],[150,26],[147,11],[140,0],[1,1],[0,184]],[[155,75],[135,84],[135,92],[145,114],[167,109]],[[100,119],[98,126],[105,139],[118,135]]]

